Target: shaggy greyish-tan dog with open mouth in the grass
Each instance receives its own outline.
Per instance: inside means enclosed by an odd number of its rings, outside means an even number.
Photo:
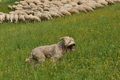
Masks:
[[[27,63],[37,62],[43,63],[46,58],[51,59],[52,62],[56,62],[62,56],[64,56],[68,50],[74,51],[75,46],[74,39],[69,36],[60,38],[60,42],[57,44],[39,46],[32,50],[29,58],[25,60]]]

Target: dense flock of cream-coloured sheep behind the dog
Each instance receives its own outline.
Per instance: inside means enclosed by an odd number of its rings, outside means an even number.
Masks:
[[[12,6],[8,5],[8,8],[14,11],[0,12],[0,23],[50,20],[53,17],[94,11],[95,8],[105,7],[115,2],[120,0],[24,0],[15,2]]]

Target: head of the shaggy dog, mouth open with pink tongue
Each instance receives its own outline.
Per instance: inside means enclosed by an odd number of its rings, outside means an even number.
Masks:
[[[67,49],[74,51],[73,46],[75,46],[75,42],[74,42],[73,38],[66,36],[66,37],[62,37],[60,39],[63,41],[63,43]]]

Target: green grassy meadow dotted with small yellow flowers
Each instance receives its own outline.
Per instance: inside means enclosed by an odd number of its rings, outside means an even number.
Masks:
[[[0,3],[0,11],[9,12],[14,1]],[[75,39],[75,51],[56,66],[25,63],[33,48],[63,36]],[[120,80],[120,3],[49,21],[0,24],[0,80]]]

